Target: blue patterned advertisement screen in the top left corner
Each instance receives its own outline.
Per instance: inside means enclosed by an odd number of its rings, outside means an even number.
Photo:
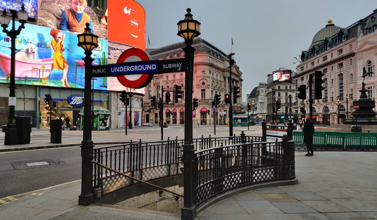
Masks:
[[[37,19],[38,17],[38,0],[0,0],[1,10],[6,9],[9,12],[9,9],[21,10],[21,5],[24,2],[25,11],[32,19]]]

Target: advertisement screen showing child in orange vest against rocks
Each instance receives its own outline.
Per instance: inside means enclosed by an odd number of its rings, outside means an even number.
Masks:
[[[40,26],[81,34],[87,22],[95,35],[107,39],[107,0],[39,0]]]

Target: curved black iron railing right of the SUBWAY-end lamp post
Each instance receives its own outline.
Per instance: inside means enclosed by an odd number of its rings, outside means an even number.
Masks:
[[[240,143],[195,152],[194,202],[236,187],[295,177],[294,142]]]

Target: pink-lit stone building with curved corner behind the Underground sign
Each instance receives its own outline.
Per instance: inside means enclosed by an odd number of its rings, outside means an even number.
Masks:
[[[155,50],[151,50],[149,54],[153,60],[168,60],[184,58],[185,52],[182,47],[184,43],[171,44]],[[194,80],[193,80],[193,98],[197,98],[198,107],[193,110],[193,124],[210,125],[213,124],[213,110],[212,100],[215,94],[219,94],[221,97],[221,103],[216,111],[216,123],[219,125],[227,124],[229,120],[229,104],[225,104],[225,94],[229,93],[230,88],[230,66],[227,54],[220,49],[210,44],[209,42],[196,38],[192,46],[195,48],[194,52]],[[145,87],[145,102],[144,109],[145,120],[147,122],[158,124],[159,123],[159,110],[151,109],[150,98],[156,96],[157,100],[164,95],[165,91],[170,91],[171,101],[174,101],[174,95],[172,93],[174,85],[182,86],[182,90],[185,90],[185,72],[167,73],[161,75],[155,75],[149,85]],[[237,99],[237,103],[233,105],[235,112],[243,110],[242,105],[242,72],[235,64],[232,67],[232,84],[233,86],[240,87],[240,97]],[[161,88],[164,88],[164,92]],[[171,116],[167,116],[171,111]],[[183,125],[185,121],[185,97],[183,95],[182,100],[178,103],[164,104],[163,118],[167,124],[170,125]],[[209,113],[210,112],[210,113]]]

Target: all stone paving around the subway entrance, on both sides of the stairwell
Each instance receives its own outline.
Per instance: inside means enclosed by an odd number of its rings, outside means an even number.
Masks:
[[[304,155],[296,152],[297,185],[254,190],[223,199],[200,213],[197,220],[377,219],[376,152]],[[79,206],[80,184],[75,181],[16,196],[0,205],[0,220],[59,220],[75,216],[77,219],[180,219],[179,215],[148,210]]]

